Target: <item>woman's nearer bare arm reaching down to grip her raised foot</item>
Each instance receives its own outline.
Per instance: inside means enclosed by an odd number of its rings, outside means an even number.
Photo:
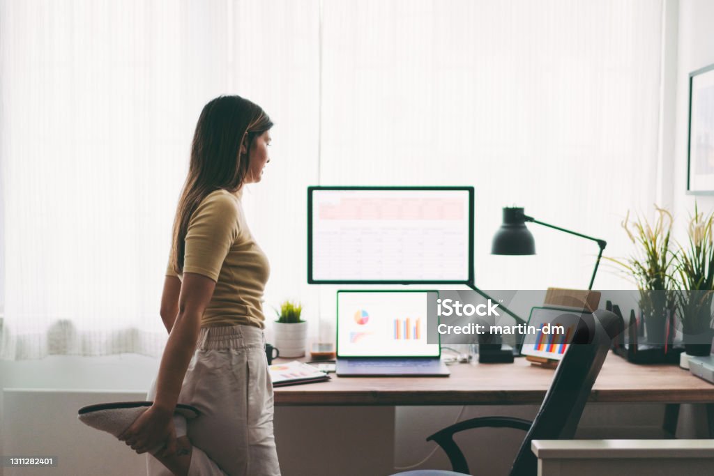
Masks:
[[[156,399],[124,433],[119,440],[138,453],[143,453],[162,442],[169,442],[169,450],[175,447],[176,432],[171,416],[181,393],[181,384],[188,363],[196,350],[201,315],[211,301],[216,282],[196,273],[183,273],[181,293],[178,297],[178,314],[169,340],[164,348],[156,379]]]

